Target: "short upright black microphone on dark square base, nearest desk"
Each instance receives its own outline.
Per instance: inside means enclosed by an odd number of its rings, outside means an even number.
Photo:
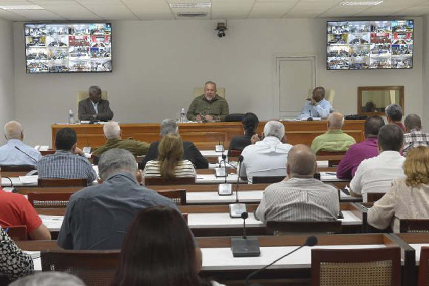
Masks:
[[[249,214],[242,212],[243,219],[243,236],[231,237],[231,251],[234,257],[257,257],[260,255],[260,247],[257,237],[246,236],[246,219]]]

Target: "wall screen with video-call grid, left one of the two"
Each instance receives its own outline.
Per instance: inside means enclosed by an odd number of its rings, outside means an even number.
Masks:
[[[112,26],[26,24],[27,73],[112,71]]]

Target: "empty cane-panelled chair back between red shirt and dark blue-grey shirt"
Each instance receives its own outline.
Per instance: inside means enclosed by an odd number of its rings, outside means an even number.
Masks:
[[[73,193],[28,193],[27,198],[34,208],[67,207]]]

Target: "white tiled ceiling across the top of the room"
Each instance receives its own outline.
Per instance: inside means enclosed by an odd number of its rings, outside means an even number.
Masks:
[[[211,8],[171,9],[171,3],[211,2]],[[177,12],[207,12],[197,19],[422,16],[429,0],[384,0],[376,6],[342,6],[340,0],[0,0],[0,6],[39,5],[45,10],[3,10],[12,21],[177,20]]]

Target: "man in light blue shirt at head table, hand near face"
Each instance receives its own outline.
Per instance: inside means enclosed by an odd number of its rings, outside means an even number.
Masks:
[[[301,114],[297,119],[307,117],[327,118],[329,116],[332,105],[325,99],[325,89],[321,86],[313,89],[311,98],[307,98],[307,102],[302,108]]]

